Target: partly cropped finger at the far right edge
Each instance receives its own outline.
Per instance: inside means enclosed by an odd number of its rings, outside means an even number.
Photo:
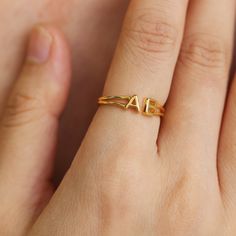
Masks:
[[[235,209],[236,199],[236,75],[230,88],[220,137],[218,170],[223,199]],[[233,208],[232,208],[233,207]]]

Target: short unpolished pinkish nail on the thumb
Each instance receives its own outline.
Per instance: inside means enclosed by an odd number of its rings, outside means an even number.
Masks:
[[[52,46],[52,36],[42,26],[36,27],[30,38],[27,59],[31,62],[45,63],[49,56]]]

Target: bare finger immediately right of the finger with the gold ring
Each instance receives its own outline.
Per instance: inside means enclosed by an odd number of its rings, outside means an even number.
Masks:
[[[177,155],[183,166],[201,166],[199,171],[214,176],[231,64],[234,4],[234,0],[191,2],[160,138],[171,160]]]

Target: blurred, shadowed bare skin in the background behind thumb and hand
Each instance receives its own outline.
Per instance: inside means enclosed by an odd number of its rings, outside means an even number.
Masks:
[[[96,111],[128,0],[0,1],[0,113],[24,58],[34,24],[53,23],[73,49],[70,99],[59,131],[57,182],[69,167]],[[89,86],[87,86],[89,85]],[[81,113],[78,107],[87,106]]]

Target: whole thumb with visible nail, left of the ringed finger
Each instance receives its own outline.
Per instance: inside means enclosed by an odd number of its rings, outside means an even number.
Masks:
[[[36,27],[0,122],[1,235],[23,234],[52,194],[58,118],[69,78],[65,39],[52,27]]]

